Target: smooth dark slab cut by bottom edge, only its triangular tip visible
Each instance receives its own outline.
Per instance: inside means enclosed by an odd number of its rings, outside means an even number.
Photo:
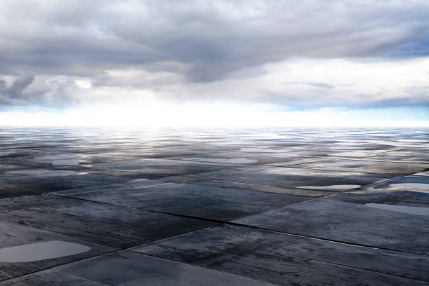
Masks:
[[[0,285],[273,286],[261,280],[126,251],[60,266]]]

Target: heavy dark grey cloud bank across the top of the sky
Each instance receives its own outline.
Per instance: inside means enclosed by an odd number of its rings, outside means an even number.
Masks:
[[[291,57],[423,57],[429,55],[428,11],[425,0],[4,0],[0,74],[85,77],[95,87],[157,90],[223,81]],[[121,69],[141,72],[126,79],[108,72]],[[147,73],[164,74],[151,79]],[[8,88],[2,82],[1,104],[74,97],[72,79],[31,97],[23,93],[32,81],[19,77]],[[294,84],[333,88],[305,80]]]

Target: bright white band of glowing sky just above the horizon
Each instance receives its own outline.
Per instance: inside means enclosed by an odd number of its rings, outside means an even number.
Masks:
[[[55,111],[0,112],[6,126],[130,126],[130,127],[429,127],[428,110],[421,114],[399,108],[281,111],[257,105],[147,104],[98,105]]]

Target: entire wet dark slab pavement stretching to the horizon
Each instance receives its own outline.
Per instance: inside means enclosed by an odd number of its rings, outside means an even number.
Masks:
[[[0,285],[429,285],[428,149],[427,129],[0,128]]]

